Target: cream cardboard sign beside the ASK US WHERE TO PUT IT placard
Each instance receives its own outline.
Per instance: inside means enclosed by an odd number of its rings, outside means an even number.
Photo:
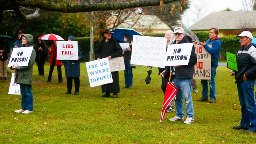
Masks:
[[[115,57],[108,61],[111,72],[125,70],[124,57]]]

